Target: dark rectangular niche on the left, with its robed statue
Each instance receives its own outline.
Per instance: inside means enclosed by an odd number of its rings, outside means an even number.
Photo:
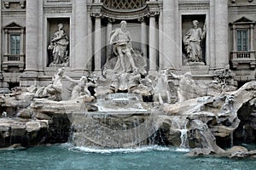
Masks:
[[[61,25],[63,28],[61,29]],[[59,28],[60,27],[60,28]],[[60,30],[59,30],[60,29]],[[70,19],[47,19],[47,59],[48,67],[70,65]]]

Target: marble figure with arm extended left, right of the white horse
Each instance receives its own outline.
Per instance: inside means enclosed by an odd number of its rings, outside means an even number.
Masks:
[[[192,99],[195,94],[195,81],[192,79],[191,72],[186,72],[184,75],[177,76],[171,72],[172,77],[179,79],[177,88],[177,101],[183,102],[187,99]]]

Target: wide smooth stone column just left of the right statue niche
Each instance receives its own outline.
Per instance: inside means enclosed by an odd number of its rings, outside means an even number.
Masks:
[[[176,41],[177,27],[177,1],[163,1],[163,54],[160,55],[161,69],[175,69],[180,65],[182,59],[177,58],[176,47],[179,42]]]

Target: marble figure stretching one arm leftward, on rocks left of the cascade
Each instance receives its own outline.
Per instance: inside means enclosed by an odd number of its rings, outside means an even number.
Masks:
[[[75,84],[72,90],[71,98],[70,99],[77,99],[80,96],[88,95],[91,96],[90,91],[88,90],[88,80],[87,77],[81,77],[79,80],[74,80],[71,77],[68,77],[64,74],[64,77]]]

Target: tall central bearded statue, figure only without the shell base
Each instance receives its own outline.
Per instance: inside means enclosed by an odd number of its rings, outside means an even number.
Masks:
[[[121,27],[113,30],[110,35],[110,44],[113,45],[113,52],[117,55],[118,60],[114,65],[113,71],[115,72],[129,72],[137,71],[138,68],[134,63],[132,57],[135,54],[131,47],[131,35],[127,30],[127,23],[122,20]]]

